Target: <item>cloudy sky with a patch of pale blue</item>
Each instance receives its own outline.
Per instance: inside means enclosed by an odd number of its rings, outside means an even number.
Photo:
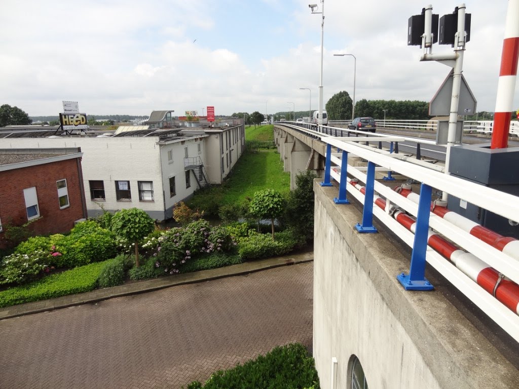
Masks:
[[[429,3],[311,1],[324,9],[323,108],[335,93],[353,96],[354,82],[356,101],[429,102],[450,72],[420,62],[423,49],[407,46],[408,18]],[[80,112],[98,117],[167,109],[203,115],[207,106],[216,115],[272,114],[310,109],[310,101],[315,110],[322,14],[312,15],[308,4],[2,0],[0,105],[30,116],[58,115],[62,101],[77,101]],[[436,0],[433,13],[441,17],[460,4]],[[493,112],[508,1],[465,4],[472,20],[463,75],[477,110]],[[432,52],[453,48],[435,44]]]

